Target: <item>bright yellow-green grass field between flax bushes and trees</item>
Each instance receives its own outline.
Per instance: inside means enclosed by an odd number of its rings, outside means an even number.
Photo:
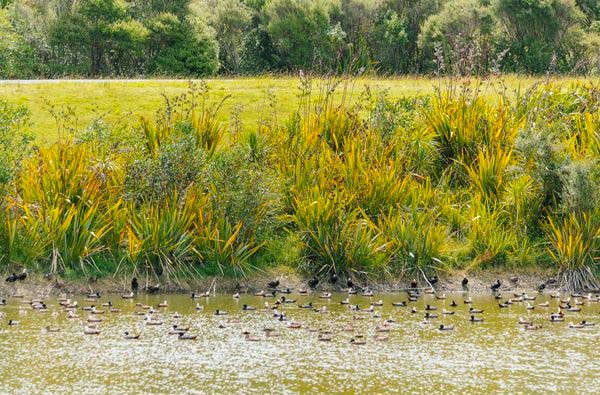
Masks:
[[[565,85],[582,82],[581,79],[561,79]],[[589,80],[586,80],[589,81]],[[598,78],[595,83],[598,83]],[[262,120],[276,118],[278,122],[297,109],[300,94],[299,78],[259,77],[206,80],[210,100],[220,102],[229,96],[219,117],[230,122],[238,114],[244,129],[251,129]],[[501,83],[516,91],[530,86],[533,78],[509,76],[503,80],[485,83],[484,94],[494,96]],[[313,81],[313,97],[318,96],[318,81]],[[439,80],[427,78],[393,78],[354,80],[347,86],[347,100],[353,100],[369,87],[373,94],[387,91],[389,97],[424,95],[434,92]],[[57,138],[55,111],[72,110],[80,128],[103,117],[107,122],[135,124],[140,116],[151,115],[164,104],[163,95],[173,97],[189,87],[186,80],[60,80],[60,81],[0,81],[0,100],[25,105],[31,111],[32,129],[39,143]],[[338,89],[341,100],[342,89]]]

